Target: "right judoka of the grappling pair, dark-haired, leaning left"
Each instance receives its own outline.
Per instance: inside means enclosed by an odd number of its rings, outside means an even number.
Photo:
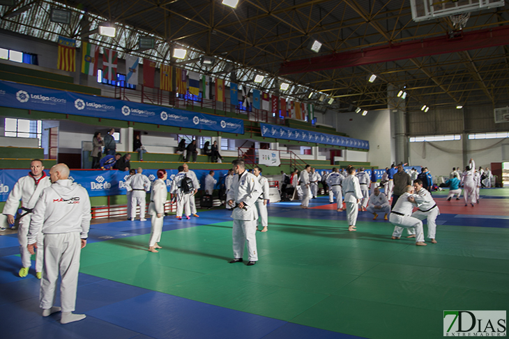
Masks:
[[[415,194],[409,198],[409,201],[415,203],[418,210],[413,212],[412,216],[419,220],[427,219],[427,237],[433,244],[436,244],[436,217],[440,215],[439,207],[419,179],[413,181],[413,191]],[[415,231],[412,228],[409,228],[408,232],[409,237],[415,237]]]

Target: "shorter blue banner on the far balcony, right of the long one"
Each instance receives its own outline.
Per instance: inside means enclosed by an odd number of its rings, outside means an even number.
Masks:
[[[294,141],[307,141],[310,143],[324,143],[326,145],[346,146],[352,148],[370,149],[370,142],[366,140],[348,138],[321,132],[312,132],[305,129],[296,129],[278,125],[260,123],[261,136],[275,139],[287,139]]]

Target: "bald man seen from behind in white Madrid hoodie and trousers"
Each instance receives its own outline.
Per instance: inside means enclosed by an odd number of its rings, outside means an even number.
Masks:
[[[53,184],[44,189],[29,228],[27,249],[33,253],[40,233],[44,237],[43,278],[40,281],[40,308],[43,317],[61,311],[61,324],[77,322],[86,317],[73,314],[79,273],[79,256],[86,246],[90,228],[90,198],[86,189],[69,180],[66,164],[56,164],[50,170]],[[56,285],[61,276],[60,307],[53,306]]]

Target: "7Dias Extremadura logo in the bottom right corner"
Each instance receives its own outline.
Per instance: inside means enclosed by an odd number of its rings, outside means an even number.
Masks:
[[[505,310],[444,310],[444,337],[505,337]]]

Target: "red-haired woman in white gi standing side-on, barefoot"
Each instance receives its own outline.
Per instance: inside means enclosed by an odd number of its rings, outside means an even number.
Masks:
[[[152,216],[152,230],[150,234],[149,251],[158,253],[157,249],[162,249],[158,245],[161,241],[162,219],[165,217],[165,202],[168,197],[166,179],[168,175],[165,170],[158,170],[158,180],[152,184],[152,193],[150,197],[149,214]]]

